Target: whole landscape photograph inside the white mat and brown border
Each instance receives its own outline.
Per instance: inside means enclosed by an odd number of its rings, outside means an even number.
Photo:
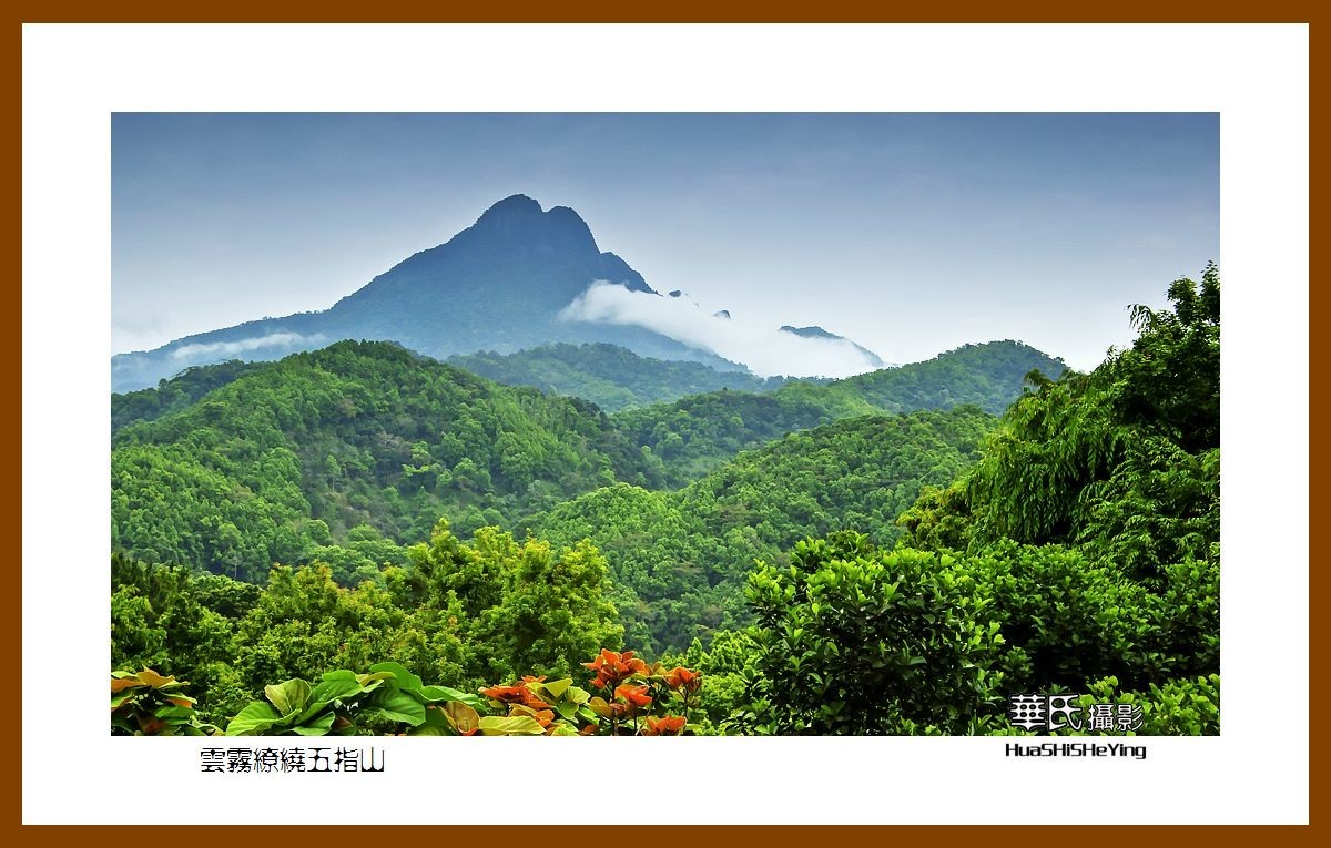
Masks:
[[[1203,112],[113,113],[110,734],[1218,735],[1219,171]]]

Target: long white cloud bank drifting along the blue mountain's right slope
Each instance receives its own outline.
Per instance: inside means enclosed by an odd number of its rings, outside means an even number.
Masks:
[[[743,316],[699,308],[688,295],[660,296],[594,282],[559,312],[560,320],[646,327],[743,363],[759,376],[845,377],[881,367],[845,339],[807,339]],[[800,323],[800,322],[792,322]]]

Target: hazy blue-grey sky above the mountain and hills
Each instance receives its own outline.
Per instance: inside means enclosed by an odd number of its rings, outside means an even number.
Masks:
[[[113,350],[327,308],[516,193],[658,291],[897,363],[1090,368],[1221,259],[1217,114],[116,114]]]

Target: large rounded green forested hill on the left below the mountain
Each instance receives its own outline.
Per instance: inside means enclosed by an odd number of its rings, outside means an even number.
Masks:
[[[427,537],[439,516],[511,525],[616,480],[659,482],[584,401],[343,342],[118,431],[112,544],[254,581],[273,562],[323,558],[354,582],[401,561],[381,537]]]

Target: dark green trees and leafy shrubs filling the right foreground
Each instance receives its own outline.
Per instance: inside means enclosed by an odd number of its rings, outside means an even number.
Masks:
[[[720,666],[756,683],[736,730],[998,732],[1006,695],[1063,687],[1153,732],[1218,732],[1215,266],[1169,299],[1091,373],[1037,379],[894,550],[832,534],[759,565],[759,627]]]

